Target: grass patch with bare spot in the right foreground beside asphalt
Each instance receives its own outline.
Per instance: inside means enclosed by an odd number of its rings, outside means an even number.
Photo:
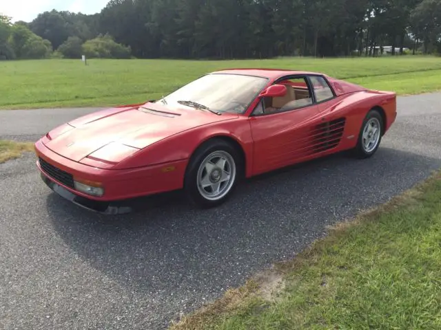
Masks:
[[[172,329],[441,329],[440,242],[441,172]]]

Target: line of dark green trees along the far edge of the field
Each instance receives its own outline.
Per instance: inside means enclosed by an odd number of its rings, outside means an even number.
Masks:
[[[112,0],[93,15],[52,10],[29,23],[3,18],[0,58],[23,56],[14,41],[23,29],[32,44],[74,58],[376,56],[384,46],[391,54],[440,54],[441,1]]]

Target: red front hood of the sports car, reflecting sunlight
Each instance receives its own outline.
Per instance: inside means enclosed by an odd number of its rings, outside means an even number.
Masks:
[[[118,157],[133,153],[177,133],[198,126],[238,118],[232,113],[216,115],[195,109],[172,109],[146,103],[136,107],[119,107],[90,113],[57,127],[46,135],[45,146],[75,162],[109,145]],[[106,148],[108,155],[109,148]],[[112,153],[112,152],[111,152]]]

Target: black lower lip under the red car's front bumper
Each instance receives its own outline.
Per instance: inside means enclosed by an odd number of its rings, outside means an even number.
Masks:
[[[88,199],[80,195],[75,195],[68,189],[57,184],[57,182],[52,181],[49,177],[41,173],[41,179],[52,191],[56,192],[57,195],[71,201],[81,208],[85,208],[90,211],[99,212],[102,214],[125,214],[130,213],[134,209],[125,202],[116,201],[96,201],[93,199]]]

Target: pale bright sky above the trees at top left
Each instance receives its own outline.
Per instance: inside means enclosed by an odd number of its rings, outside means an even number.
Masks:
[[[94,14],[101,12],[110,0],[0,0],[0,13],[12,17],[12,21],[30,22],[45,11],[68,10]]]

